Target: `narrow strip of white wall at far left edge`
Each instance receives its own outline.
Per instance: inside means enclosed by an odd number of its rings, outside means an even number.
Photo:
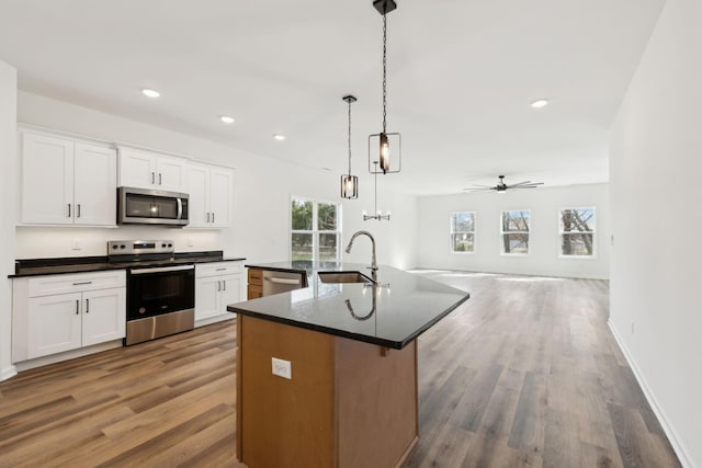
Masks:
[[[12,287],[14,273],[16,70],[0,61],[0,380],[15,370],[11,361]]]

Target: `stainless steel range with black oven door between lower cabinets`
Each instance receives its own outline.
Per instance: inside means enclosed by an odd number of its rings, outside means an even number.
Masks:
[[[174,250],[171,240],[107,242],[107,261],[127,271],[127,346],[195,326],[195,265]]]

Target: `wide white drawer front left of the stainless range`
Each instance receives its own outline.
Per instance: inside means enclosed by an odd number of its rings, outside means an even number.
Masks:
[[[126,272],[124,270],[37,276],[27,281],[29,297],[50,296],[54,294],[79,293],[83,290],[125,286]]]

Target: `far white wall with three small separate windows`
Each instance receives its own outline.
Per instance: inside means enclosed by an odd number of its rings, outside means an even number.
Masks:
[[[608,184],[424,196],[419,198],[418,205],[420,266],[528,275],[609,277]],[[561,256],[558,214],[563,208],[577,207],[596,208],[596,255],[590,259]],[[531,210],[528,255],[500,254],[500,214],[508,209]],[[474,253],[450,251],[450,214],[453,212],[475,212]]]

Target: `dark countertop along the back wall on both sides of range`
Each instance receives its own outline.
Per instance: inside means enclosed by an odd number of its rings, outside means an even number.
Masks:
[[[202,252],[178,252],[172,259],[146,262],[110,263],[106,255],[65,256],[49,259],[15,260],[14,274],[10,278],[23,276],[42,276],[69,273],[101,272],[106,270],[124,270],[131,266],[168,266],[211,262],[236,262],[245,258],[224,256],[220,250]]]

